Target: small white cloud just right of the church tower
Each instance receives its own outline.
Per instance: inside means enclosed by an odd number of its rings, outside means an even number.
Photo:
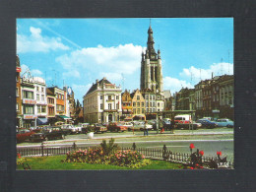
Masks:
[[[187,83],[184,80],[179,80],[171,77],[163,78],[163,87],[164,90],[170,90],[171,94],[180,91],[182,88],[194,88],[190,83]]]

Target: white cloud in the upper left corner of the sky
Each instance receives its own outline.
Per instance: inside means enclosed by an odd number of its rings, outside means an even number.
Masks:
[[[48,52],[52,50],[68,50],[59,37],[42,36],[39,28],[30,28],[31,35],[17,34],[17,52]]]

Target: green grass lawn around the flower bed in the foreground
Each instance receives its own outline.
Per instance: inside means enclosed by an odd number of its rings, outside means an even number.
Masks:
[[[51,169],[51,170],[103,170],[103,169],[133,169],[129,167],[105,164],[90,164],[81,162],[61,162],[65,160],[65,156],[55,157],[36,157],[27,158],[32,170]],[[164,160],[151,160],[151,163],[139,169],[182,169],[183,165],[180,163],[169,162]],[[23,169],[22,165],[17,165],[17,169]]]

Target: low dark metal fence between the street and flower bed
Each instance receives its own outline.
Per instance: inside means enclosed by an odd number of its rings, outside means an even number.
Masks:
[[[45,157],[45,156],[60,156],[66,155],[68,152],[76,151],[76,150],[89,150],[96,149],[96,147],[88,146],[88,147],[77,147],[74,143],[72,147],[45,147],[41,145],[38,148],[25,148],[25,149],[17,149],[17,153],[23,157]],[[173,162],[181,162],[187,163],[190,161],[190,154],[181,154],[181,153],[173,153],[171,151],[167,151],[165,146],[163,146],[162,150],[157,149],[146,149],[146,148],[136,148],[136,145],[133,144],[132,148],[121,148],[122,151],[137,151],[143,154],[148,159],[157,159],[157,160],[169,160]],[[217,160],[217,158],[209,158],[202,157],[202,162],[209,162],[210,160]],[[233,162],[221,162],[219,165],[228,165],[229,168],[233,167]]]

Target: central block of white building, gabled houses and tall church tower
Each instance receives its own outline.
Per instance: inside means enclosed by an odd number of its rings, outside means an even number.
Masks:
[[[163,92],[160,50],[156,52],[151,26],[147,49],[142,52],[140,90],[122,93],[120,87],[106,78],[96,80],[83,98],[86,122],[110,122],[162,111],[169,103],[169,92]]]

